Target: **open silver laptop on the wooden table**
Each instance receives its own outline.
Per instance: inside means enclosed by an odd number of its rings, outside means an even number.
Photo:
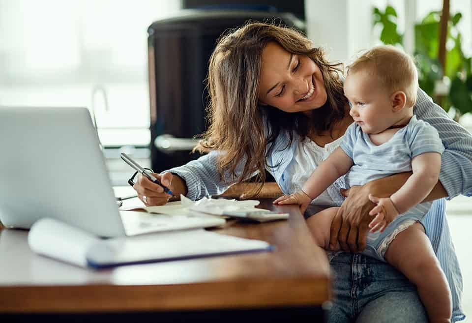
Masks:
[[[0,147],[0,221],[7,228],[29,229],[50,217],[113,237],[225,223],[182,214],[166,227],[159,216],[137,213],[140,223],[129,212],[120,216],[86,108],[0,107]]]

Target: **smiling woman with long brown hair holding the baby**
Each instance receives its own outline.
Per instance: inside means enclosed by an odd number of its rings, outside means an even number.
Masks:
[[[200,199],[253,175],[264,182],[267,169],[284,194],[295,192],[353,122],[341,71],[293,29],[252,23],[221,37],[209,64],[210,126],[197,147],[209,153],[163,172],[162,183],[176,196]],[[471,135],[421,90],[414,112],[437,128],[446,148],[440,181],[428,200],[471,195]],[[345,251],[362,250],[373,208],[368,195],[390,196],[409,175],[353,187],[344,192],[344,202],[340,178],[314,200],[318,205],[342,203],[331,242],[338,240]],[[134,188],[147,205],[162,205],[170,198],[144,177]],[[455,322],[464,319],[462,277],[444,215],[444,199],[437,200],[424,225],[450,284]],[[415,288],[389,264],[347,252],[330,252],[329,259],[336,294],[329,322],[427,322]]]

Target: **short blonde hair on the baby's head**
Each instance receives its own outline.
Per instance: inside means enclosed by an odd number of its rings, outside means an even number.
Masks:
[[[348,67],[349,73],[367,69],[375,74],[391,93],[403,91],[406,106],[413,107],[418,91],[418,72],[413,59],[391,45],[377,46],[365,52]]]

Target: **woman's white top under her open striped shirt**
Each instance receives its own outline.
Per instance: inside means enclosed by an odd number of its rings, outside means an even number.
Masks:
[[[293,174],[293,176],[291,178],[286,178],[286,180],[289,182],[287,187],[290,194],[301,190],[303,184],[307,181],[308,177],[310,177],[315,169],[326,158],[328,158],[334,149],[339,147],[343,137],[344,136],[326,144],[324,147],[318,146],[308,137],[305,138],[305,140],[298,142],[298,145],[296,145],[294,151],[294,159],[288,166],[288,174]],[[338,192],[339,187],[332,184],[316,199],[311,201],[311,204],[318,206],[339,206],[341,201],[340,194]],[[332,196],[333,193],[336,194]]]

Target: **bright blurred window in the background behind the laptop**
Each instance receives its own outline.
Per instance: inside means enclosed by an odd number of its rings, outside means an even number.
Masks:
[[[104,146],[148,145],[147,28],[178,9],[179,0],[0,0],[0,105],[93,106]]]

